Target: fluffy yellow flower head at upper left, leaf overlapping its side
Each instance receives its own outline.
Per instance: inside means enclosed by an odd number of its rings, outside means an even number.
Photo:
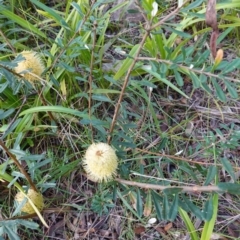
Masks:
[[[20,53],[25,59],[18,62],[15,72],[21,74],[29,82],[38,80],[34,75],[41,76],[44,71],[44,65],[38,53],[34,51],[23,51]]]

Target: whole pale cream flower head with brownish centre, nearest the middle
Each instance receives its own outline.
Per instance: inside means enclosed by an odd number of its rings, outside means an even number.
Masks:
[[[93,143],[88,147],[83,159],[83,167],[90,180],[102,182],[116,175],[118,158],[106,143]]]

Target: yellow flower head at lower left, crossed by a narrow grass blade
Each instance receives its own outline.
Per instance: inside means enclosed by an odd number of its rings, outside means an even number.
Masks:
[[[37,209],[39,211],[42,211],[43,207],[44,207],[44,203],[43,203],[43,196],[42,194],[35,192],[32,189],[28,190],[27,196],[32,200],[32,202],[34,203],[34,205],[37,207]],[[21,204],[21,202],[25,199],[25,196],[23,195],[22,192],[18,192],[17,195],[15,196],[15,201],[17,202],[17,204]],[[22,206],[21,208],[22,212],[31,214],[31,213],[35,213],[32,205],[29,203],[29,201],[27,200],[27,202]]]

